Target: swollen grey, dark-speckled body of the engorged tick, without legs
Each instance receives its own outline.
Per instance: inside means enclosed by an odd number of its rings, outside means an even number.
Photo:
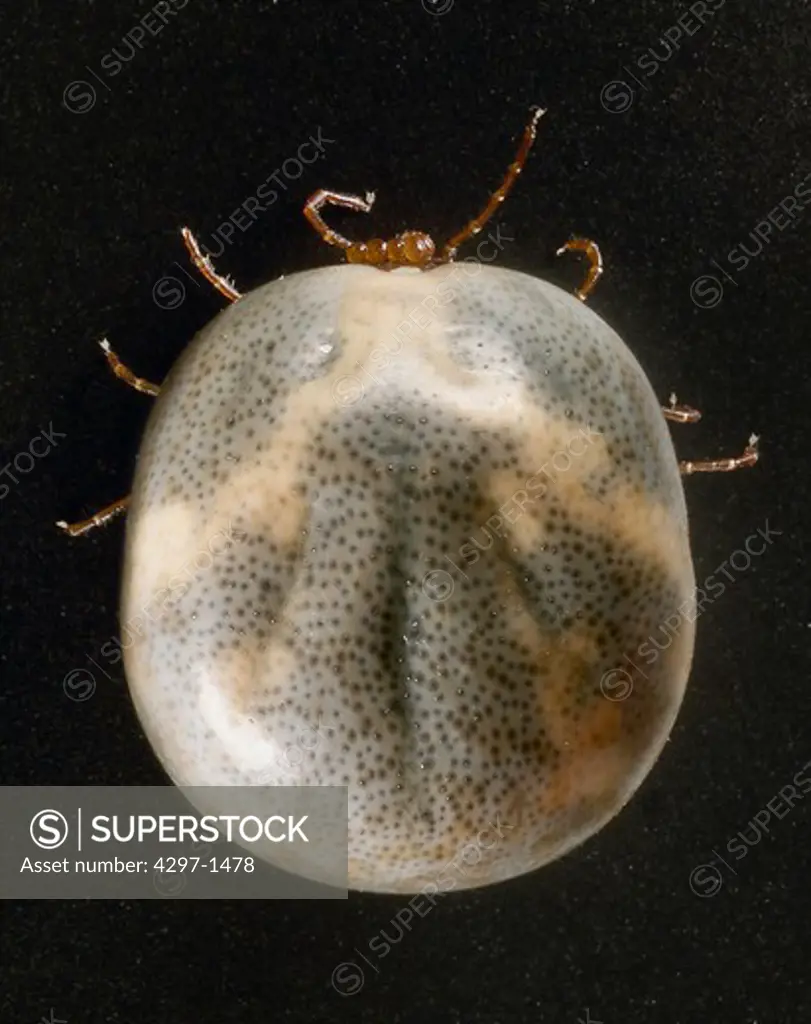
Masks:
[[[497,819],[457,888],[559,856],[681,701],[693,628],[661,626],[694,580],[658,402],[524,274],[343,265],[246,295],[161,389],[127,537],[127,675],[170,775],[348,784],[356,888],[418,891]]]

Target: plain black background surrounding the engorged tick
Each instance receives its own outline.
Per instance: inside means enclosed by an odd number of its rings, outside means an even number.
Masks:
[[[693,4],[706,25],[688,16],[693,34],[676,40],[686,0],[177,0],[111,77],[102,59],[127,52],[152,6],[3,4],[0,461],[49,425],[65,435],[0,500],[3,782],[163,780],[120,666],[101,663],[108,678],[89,662],[117,629],[122,524],[71,542],[52,522],[127,492],[150,404],[108,372],[97,339],[160,380],[222,304],[174,266],[178,227],[210,239],[318,127],[334,140],[324,159],[237,232],[221,271],[249,289],[334,261],[300,214],[322,185],[377,189],[371,218],[334,218],[354,236],[446,237],[499,180],[527,109],[545,105],[501,213],[515,240],[502,265],[571,284],[577,260],[555,249],[597,239],[607,272],[593,307],[663,399],[675,390],[705,413],[674,428],[679,452],[733,454],[762,435],[756,470],[686,481],[699,582],[767,520],[781,532],[728,570],[672,741],[581,850],[449,895],[385,958],[369,943],[396,934],[399,898],[6,903],[2,1020],[811,1020],[811,797],[744,859],[727,856],[737,874],[721,866],[715,895],[689,883],[811,761],[809,213],[778,216],[745,268],[727,256],[811,181],[811,9],[708,0]],[[77,80],[96,92],[84,113],[63,103]],[[631,91],[604,91],[614,80]],[[723,294],[699,308],[691,284],[707,273]],[[173,309],[154,301],[166,274],[185,284]],[[62,687],[77,668],[97,677],[84,701]],[[346,961],[365,972],[353,994],[331,985]]]

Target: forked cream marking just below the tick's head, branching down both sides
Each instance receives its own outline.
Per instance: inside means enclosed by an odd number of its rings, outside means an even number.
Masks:
[[[233,511],[233,496],[239,494],[249,527],[267,529],[282,544],[295,541],[306,517],[296,488],[303,482],[312,437],[339,410],[336,386],[347,377],[362,389],[359,402],[376,387],[417,386],[426,397],[441,396],[443,415],[458,416],[475,429],[518,433],[529,455],[525,464],[536,467],[536,475],[545,462],[551,464],[566,452],[572,453],[570,462],[579,474],[604,459],[602,438],[586,436],[582,428],[538,409],[518,379],[520,368],[509,377],[501,372],[474,373],[456,362],[438,298],[446,283],[445,270],[396,276],[376,271],[347,286],[338,311],[338,334],[343,339],[339,358],[329,374],[289,396],[268,450],[231,470],[227,485],[217,490],[218,509],[210,526],[224,518],[225,508]],[[524,529],[529,529],[528,523]]]

